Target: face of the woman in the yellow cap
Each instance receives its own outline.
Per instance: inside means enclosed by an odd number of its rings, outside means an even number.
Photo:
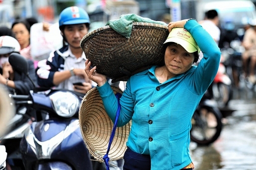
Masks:
[[[172,43],[165,51],[165,65],[170,73],[186,72],[194,62],[194,54],[187,52],[181,45]]]

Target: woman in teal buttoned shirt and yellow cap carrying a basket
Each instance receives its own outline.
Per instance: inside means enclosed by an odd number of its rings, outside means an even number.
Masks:
[[[168,24],[165,65],[132,75],[120,98],[117,126],[132,119],[123,169],[193,169],[189,153],[192,115],[213,81],[220,50],[195,19]],[[204,57],[199,65],[202,50]],[[97,83],[105,110],[115,121],[117,99],[107,77],[85,62],[89,79]]]

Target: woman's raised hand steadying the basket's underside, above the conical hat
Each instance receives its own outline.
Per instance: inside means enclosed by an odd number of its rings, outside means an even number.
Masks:
[[[98,86],[104,85],[104,83],[107,81],[106,75],[97,73],[96,66],[93,68],[90,68],[91,61],[88,59],[85,61],[85,72],[88,76],[88,78],[98,84]]]

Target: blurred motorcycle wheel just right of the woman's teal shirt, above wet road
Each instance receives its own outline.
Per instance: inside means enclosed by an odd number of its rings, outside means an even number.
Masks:
[[[221,113],[217,108],[200,106],[192,117],[190,139],[200,145],[214,142],[222,129]]]

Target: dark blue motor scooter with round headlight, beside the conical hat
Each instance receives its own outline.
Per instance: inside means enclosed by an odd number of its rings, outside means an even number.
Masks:
[[[14,69],[28,72],[27,61],[20,54],[12,53],[9,62]],[[18,143],[21,169],[92,169],[78,121],[83,96],[66,89],[41,88],[31,90],[29,95],[12,96],[31,108],[35,116]]]

